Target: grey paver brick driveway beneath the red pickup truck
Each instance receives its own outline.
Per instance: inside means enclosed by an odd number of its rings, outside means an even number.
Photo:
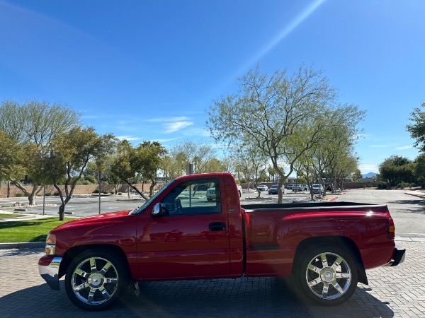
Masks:
[[[290,278],[238,278],[140,283],[104,312],[74,307],[38,274],[42,249],[0,250],[0,317],[425,317],[425,242],[398,242],[403,264],[368,271],[343,305],[302,304]]]

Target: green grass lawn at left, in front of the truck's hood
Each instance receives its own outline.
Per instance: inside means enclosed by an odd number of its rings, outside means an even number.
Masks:
[[[37,220],[16,220],[0,222],[0,243],[45,242],[52,228],[74,218],[40,218]]]

